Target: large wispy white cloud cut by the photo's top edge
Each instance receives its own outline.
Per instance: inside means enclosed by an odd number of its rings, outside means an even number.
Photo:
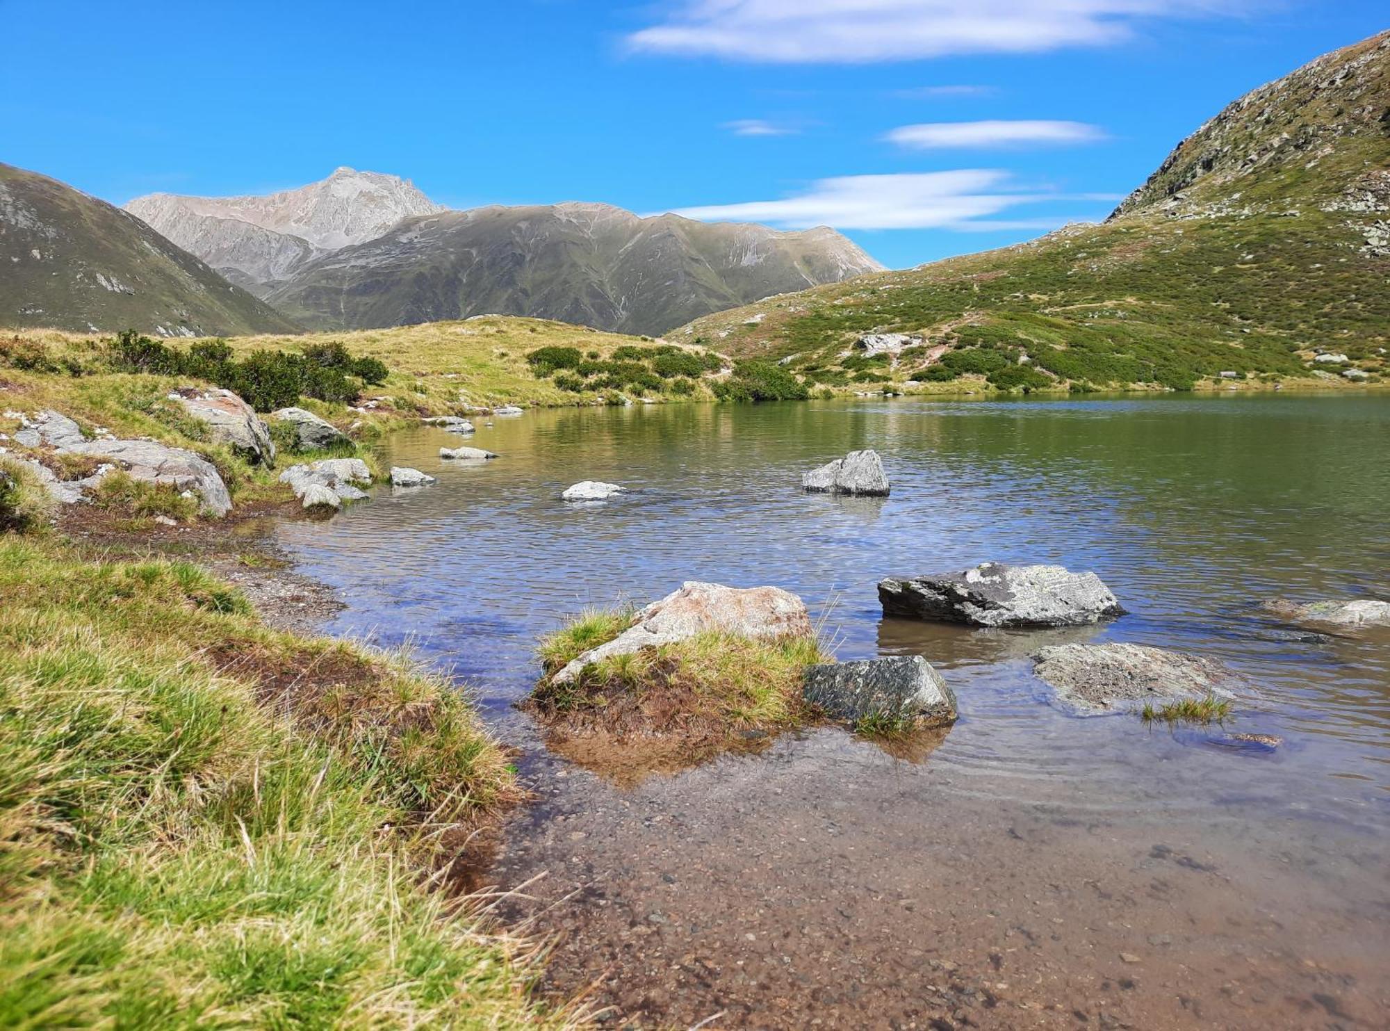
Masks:
[[[1116,43],[1145,17],[1234,13],[1251,1],[681,0],[627,42],[639,51],[783,64],[1038,53]]]

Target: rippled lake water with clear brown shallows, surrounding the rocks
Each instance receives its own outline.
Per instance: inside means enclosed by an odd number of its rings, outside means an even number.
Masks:
[[[439,482],[286,522],[341,588],[335,634],[413,642],[518,745],[535,805],[498,843],[506,913],[556,935],[545,988],[639,1025],[1384,1027],[1390,634],[1319,638],[1259,603],[1390,599],[1390,399],[856,400],[535,411],[386,460]],[[874,447],[887,499],[803,495]],[[632,493],[566,504],[606,479]],[[1094,570],[1130,614],[1081,631],[883,618],[888,574]],[[922,653],[960,720],[919,754],[824,728],[616,786],[510,703],[535,638],[685,579],[773,584],[840,659]],[[1216,732],[1081,720],[1029,656],[1195,652],[1258,693]],[[937,1023],[931,1023],[937,1021]]]

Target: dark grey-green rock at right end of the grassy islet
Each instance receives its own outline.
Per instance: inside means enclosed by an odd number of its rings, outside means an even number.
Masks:
[[[955,695],[919,654],[812,666],[802,698],[849,723],[887,717],[941,727],[956,718]]]

